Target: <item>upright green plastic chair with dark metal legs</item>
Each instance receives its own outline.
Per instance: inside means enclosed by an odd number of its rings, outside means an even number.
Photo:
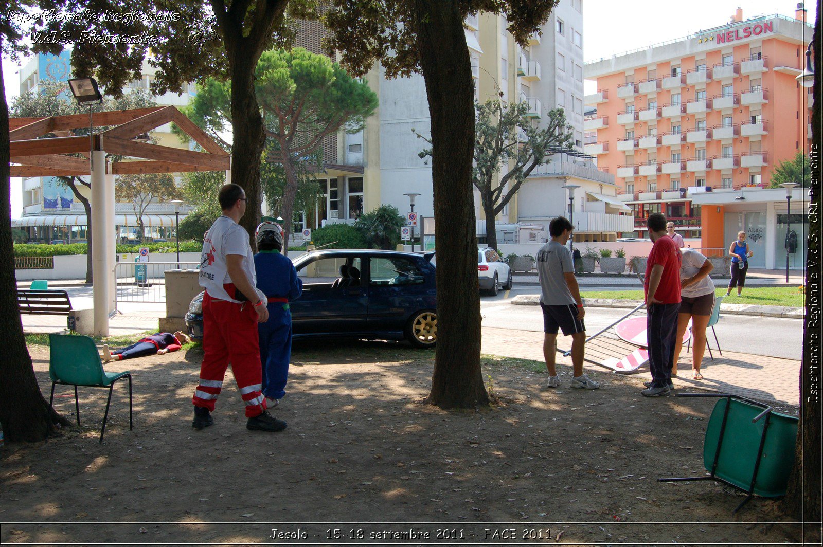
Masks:
[[[128,378],[128,429],[134,429],[132,422],[132,373],[107,373],[103,369],[103,361],[97,353],[95,342],[88,336],[74,336],[67,334],[49,334],[49,377],[52,380],[52,391],[49,397],[49,407],[53,406],[54,386],[63,384],[74,386],[74,406],[77,411],[77,425],[80,425],[80,402],[77,399],[77,386],[106,387],[109,389],[109,400],[105,403],[103,415],[103,429],[100,431],[100,443],[105,434],[105,422],[109,418],[109,405],[114,382]]]

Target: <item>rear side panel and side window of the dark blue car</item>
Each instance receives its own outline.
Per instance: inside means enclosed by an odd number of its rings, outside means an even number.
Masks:
[[[435,307],[434,268],[421,257],[369,257],[369,327],[402,331],[408,317]]]

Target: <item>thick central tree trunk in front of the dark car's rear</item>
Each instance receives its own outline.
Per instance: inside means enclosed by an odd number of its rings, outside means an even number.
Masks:
[[[437,352],[429,401],[486,405],[472,192],[474,91],[463,19],[454,0],[415,0],[417,46],[431,116],[437,223]]]

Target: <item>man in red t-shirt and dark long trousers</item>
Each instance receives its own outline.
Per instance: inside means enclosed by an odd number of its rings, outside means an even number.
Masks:
[[[666,217],[649,216],[649,237],[654,242],[646,261],[643,290],[646,299],[646,336],[652,381],[641,393],[648,397],[668,395],[674,389],[672,367],[677,343],[680,310],[680,262],[677,243],[666,234]]]

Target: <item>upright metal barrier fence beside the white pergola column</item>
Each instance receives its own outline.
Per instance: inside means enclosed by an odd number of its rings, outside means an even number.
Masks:
[[[118,262],[114,265],[114,309],[123,302],[165,303],[165,271],[199,267],[200,262]]]

